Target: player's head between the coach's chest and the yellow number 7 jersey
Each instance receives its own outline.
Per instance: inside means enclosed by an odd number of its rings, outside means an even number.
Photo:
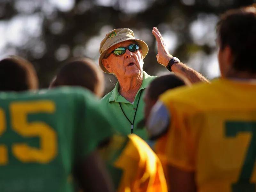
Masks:
[[[156,104],[156,101],[158,100],[158,97],[166,92],[169,89],[177,88],[183,85],[190,85],[190,83],[187,81],[186,78],[181,78],[176,75],[165,75],[160,76],[154,79],[145,95],[144,95],[144,115],[145,115],[145,122],[147,122],[148,116],[151,112],[152,107]]]

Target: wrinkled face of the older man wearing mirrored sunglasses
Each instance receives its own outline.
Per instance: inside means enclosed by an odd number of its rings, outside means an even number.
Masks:
[[[105,54],[106,56],[118,47],[128,47],[130,44],[136,44],[135,41],[129,40],[118,43],[110,47]],[[117,78],[133,77],[142,73],[143,56],[142,50],[130,52],[126,49],[123,55],[115,56],[111,53],[108,58],[102,60],[102,64],[110,73],[114,73]]]

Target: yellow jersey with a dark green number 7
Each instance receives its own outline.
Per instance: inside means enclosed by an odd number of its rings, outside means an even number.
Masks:
[[[156,143],[164,163],[195,171],[200,192],[256,191],[256,82],[217,79],[160,102],[170,114]]]

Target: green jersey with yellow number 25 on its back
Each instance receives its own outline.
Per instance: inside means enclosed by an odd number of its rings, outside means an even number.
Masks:
[[[110,130],[85,89],[0,92],[0,191],[73,191],[74,164]]]

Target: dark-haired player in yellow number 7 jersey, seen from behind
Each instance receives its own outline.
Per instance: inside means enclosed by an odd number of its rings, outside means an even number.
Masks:
[[[217,25],[221,78],[167,91],[152,109],[151,137],[167,132],[172,192],[256,191],[255,34],[255,5],[226,12]]]

